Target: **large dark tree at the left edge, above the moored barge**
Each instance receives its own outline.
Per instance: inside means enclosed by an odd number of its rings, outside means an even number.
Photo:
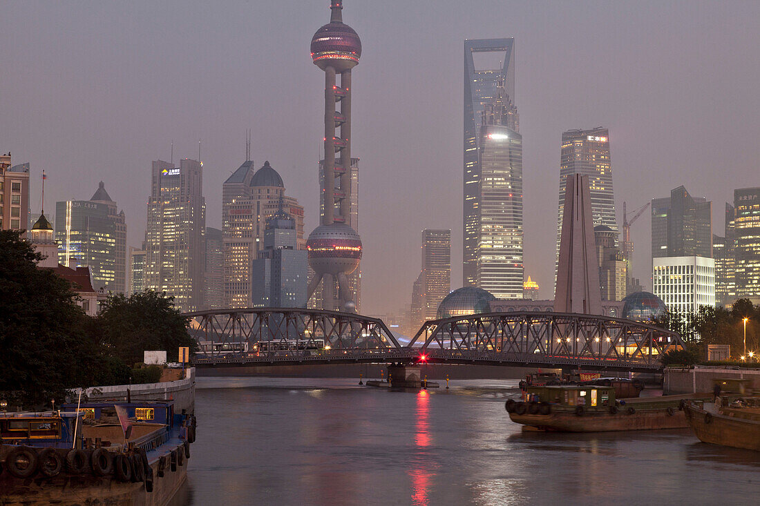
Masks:
[[[38,268],[42,257],[21,233],[0,230],[0,396],[36,406],[89,384],[100,343],[71,283]]]

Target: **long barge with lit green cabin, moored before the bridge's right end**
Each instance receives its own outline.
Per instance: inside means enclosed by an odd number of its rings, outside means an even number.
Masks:
[[[525,401],[507,400],[512,422],[529,429],[557,432],[611,432],[684,429],[689,400],[710,394],[617,399],[615,387],[546,385],[528,387]]]

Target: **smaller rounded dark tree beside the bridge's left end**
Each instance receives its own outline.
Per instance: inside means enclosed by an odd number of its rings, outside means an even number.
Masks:
[[[143,361],[143,352],[165,349],[169,360],[176,360],[179,346],[198,349],[188,335],[189,318],[174,307],[174,297],[147,290],[130,297],[109,296],[95,319],[110,353],[126,364]]]

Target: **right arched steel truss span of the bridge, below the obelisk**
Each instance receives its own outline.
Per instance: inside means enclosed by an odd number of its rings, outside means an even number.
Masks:
[[[668,349],[684,346],[676,332],[602,315],[497,312],[426,321],[409,347],[477,352],[498,358],[638,361],[654,364]]]

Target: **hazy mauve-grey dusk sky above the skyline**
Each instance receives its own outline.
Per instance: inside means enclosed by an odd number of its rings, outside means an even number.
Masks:
[[[283,177],[317,224],[324,77],[309,58],[328,0],[2,2],[0,151],[32,166],[32,207],[87,199],[101,179],[139,246],[150,162],[204,162],[207,226],[245,158]],[[461,286],[463,41],[515,37],[524,145],[525,267],[553,295],[559,144],[610,128],[619,222],[678,185],[713,201],[760,186],[760,2],[345,0],[363,43],[353,71],[361,158],[363,312],[409,303],[420,231],[452,230]],[[650,220],[633,226],[649,280]]]

